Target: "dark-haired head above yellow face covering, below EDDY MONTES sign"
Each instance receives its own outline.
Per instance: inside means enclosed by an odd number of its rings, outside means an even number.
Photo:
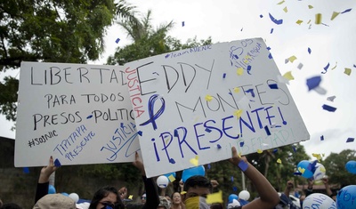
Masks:
[[[186,193],[183,195],[183,201],[190,197],[206,197],[210,194],[212,188],[211,182],[206,177],[201,175],[191,176],[184,182],[183,190]]]

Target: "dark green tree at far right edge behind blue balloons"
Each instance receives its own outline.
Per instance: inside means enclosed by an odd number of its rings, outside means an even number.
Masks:
[[[340,186],[356,184],[355,174],[347,172],[345,168],[350,160],[356,160],[356,150],[345,149],[339,154],[332,152],[325,158],[321,164],[327,170],[330,183]]]

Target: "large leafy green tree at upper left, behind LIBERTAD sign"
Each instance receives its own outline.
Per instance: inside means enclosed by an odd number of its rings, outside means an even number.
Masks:
[[[106,29],[120,18],[134,20],[124,0],[16,0],[0,3],[0,73],[21,61],[86,63],[104,49]],[[18,81],[0,83],[0,113],[16,120]],[[4,94],[3,94],[4,92]]]

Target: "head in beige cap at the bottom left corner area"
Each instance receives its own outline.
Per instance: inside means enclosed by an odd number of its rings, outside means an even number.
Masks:
[[[4,207],[3,207],[4,208]],[[76,202],[70,197],[64,196],[62,194],[48,194],[40,198],[36,205],[33,206],[33,209],[59,209],[59,208],[68,208],[76,209]]]

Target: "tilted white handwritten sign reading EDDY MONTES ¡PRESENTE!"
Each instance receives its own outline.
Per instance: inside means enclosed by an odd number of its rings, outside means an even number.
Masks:
[[[125,64],[148,177],[309,140],[261,38]],[[194,161],[194,164],[191,162]]]

